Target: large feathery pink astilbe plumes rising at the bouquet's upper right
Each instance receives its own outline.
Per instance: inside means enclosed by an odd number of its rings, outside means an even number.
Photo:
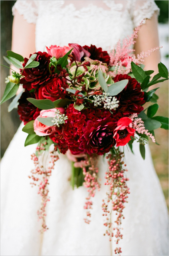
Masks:
[[[112,76],[116,76],[119,74],[128,74],[131,72],[131,62],[133,61],[135,64],[142,64],[144,62],[144,58],[150,56],[152,52],[159,50],[162,47],[155,47],[147,52],[141,52],[140,54],[134,54],[134,49],[132,49],[132,45],[136,43],[136,38],[138,37],[138,32],[140,27],[142,26],[144,20],[143,19],[139,26],[136,27],[131,36],[124,38],[121,44],[119,40],[116,44],[116,48],[114,48],[110,53],[110,66],[115,66],[113,72],[111,72]]]

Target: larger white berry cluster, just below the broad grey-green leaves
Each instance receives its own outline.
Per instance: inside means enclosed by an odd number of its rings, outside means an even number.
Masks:
[[[112,96],[108,96],[109,93],[103,93],[102,95],[97,95],[97,96],[93,96],[94,100],[92,102],[94,102],[94,106],[98,107],[101,106],[101,103],[104,103],[104,108],[105,109],[116,109],[119,106],[119,101],[117,100],[116,97]]]

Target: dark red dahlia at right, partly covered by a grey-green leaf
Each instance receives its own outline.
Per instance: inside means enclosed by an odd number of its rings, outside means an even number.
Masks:
[[[144,101],[144,92],[141,91],[140,84],[135,78],[132,78],[128,75],[117,75],[114,78],[114,82],[118,82],[124,79],[128,79],[128,84],[126,87],[117,94],[117,99],[119,102],[119,107],[116,111],[122,112],[124,115],[130,115],[137,113],[139,114],[145,103]]]

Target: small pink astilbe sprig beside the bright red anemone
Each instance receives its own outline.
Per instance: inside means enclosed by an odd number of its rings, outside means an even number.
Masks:
[[[152,142],[155,142],[155,137],[145,129],[143,120],[138,118],[137,114],[133,114],[129,118],[132,120],[132,123],[129,124],[130,127],[134,128],[138,133],[150,136]]]

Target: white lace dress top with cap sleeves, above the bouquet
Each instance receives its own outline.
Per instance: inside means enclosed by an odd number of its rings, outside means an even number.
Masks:
[[[18,10],[28,23],[36,24],[36,49],[45,46],[94,44],[104,50],[130,35],[143,18],[159,12],[154,1],[17,1]]]

